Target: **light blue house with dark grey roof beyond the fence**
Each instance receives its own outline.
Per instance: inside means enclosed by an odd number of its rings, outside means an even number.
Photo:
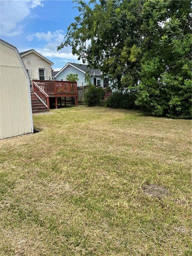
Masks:
[[[106,87],[109,84],[108,78],[102,78],[102,72],[98,69],[90,69],[88,65],[68,62],[57,74],[54,76],[57,81],[66,81],[68,74],[78,74],[77,86],[84,86],[85,75],[90,75],[90,82],[95,86]]]

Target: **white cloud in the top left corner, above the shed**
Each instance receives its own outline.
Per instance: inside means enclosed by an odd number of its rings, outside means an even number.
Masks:
[[[22,33],[25,26],[19,23],[30,15],[30,9],[37,6],[43,7],[41,1],[0,1],[0,34],[16,36]]]

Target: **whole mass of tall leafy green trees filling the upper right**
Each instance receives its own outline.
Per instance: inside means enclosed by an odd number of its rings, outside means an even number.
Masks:
[[[191,1],[78,0],[65,41],[153,115],[191,117]]]

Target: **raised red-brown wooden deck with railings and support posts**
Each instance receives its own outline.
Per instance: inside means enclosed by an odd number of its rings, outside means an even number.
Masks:
[[[75,105],[78,104],[77,82],[69,81],[50,81],[50,80],[33,80],[33,92],[38,99],[49,110],[49,97],[55,98],[55,108],[57,108],[57,98],[74,97]]]

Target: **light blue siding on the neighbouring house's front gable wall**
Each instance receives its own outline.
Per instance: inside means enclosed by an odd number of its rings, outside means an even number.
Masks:
[[[78,74],[78,81],[77,81],[77,86],[80,86],[80,82],[81,82],[81,86],[85,85],[85,73],[81,72],[80,70],[72,67],[72,66],[67,66],[57,77],[56,80],[57,81],[61,81],[61,79],[63,79],[63,81],[66,81],[66,77],[68,74]]]

